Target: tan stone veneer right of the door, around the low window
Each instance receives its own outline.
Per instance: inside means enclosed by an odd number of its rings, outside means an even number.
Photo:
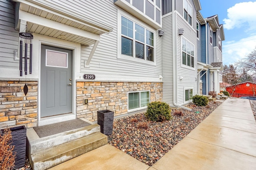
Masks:
[[[150,102],[162,101],[162,82],[76,82],[76,115],[97,120],[97,111],[128,113],[128,92],[150,91]],[[88,104],[83,104],[88,99]]]

